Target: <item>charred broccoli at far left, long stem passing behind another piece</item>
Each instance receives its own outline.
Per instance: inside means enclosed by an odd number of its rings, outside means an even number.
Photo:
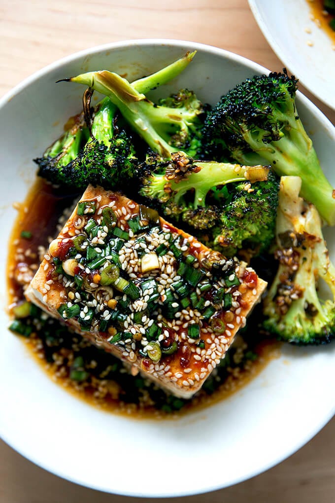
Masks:
[[[151,89],[165,84],[186,68],[193,59],[195,52],[187,53],[161,70],[135,80],[132,86],[138,92],[147,93]],[[108,170],[111,168],[112,161],[113,171],[115,171],[122,165],[122,157],[126,160],[126,174],[129,167],[132,167],[128,156],[133,157],[133,152],[131,152],[133,147],[126,145],[125,133],[119,135],[118,139],[111,140],[113,134],[115,134],[112,121],[116,115],[116,110],[110,100],[104,98],[95,107],[95,117],[91,130],[90,124],[87,125],[85,121],[87,113],[86,115],[81,113],[71,119],[70,123],[66,125],[66,133],[45,151],[43,157],[35,159],[35,162],[39,165],[38,174],[52,183],[61,185],[73,185],[79,175],[78,183],[82,188],[86,175],[87,183],[89,181],[93,183],[95,180],[109,180],[111,175],[108,176]],[[83,149],[85,151],[82,151]],[[114,157],[117,159],[114,160]],[[77,160],[75,160],[76,158]],[[97,163],[97,169],[102,169],[101,175],[95,170],[94,162]],[[66,170],[64,170],[65,166],[67,166]],[[92,177],[92,180],[89,177]],[[107,186],[110,187],[110,183]],[[114,184],[111,187],[114,187]]]

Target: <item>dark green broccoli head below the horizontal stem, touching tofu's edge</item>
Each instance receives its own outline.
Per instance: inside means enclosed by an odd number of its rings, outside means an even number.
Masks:
[[[213,248],[226,256],[244,249],[255,256],[269,249],[275,236],[279,179],[269,172],[267,181],[234,184],[211,229]]]

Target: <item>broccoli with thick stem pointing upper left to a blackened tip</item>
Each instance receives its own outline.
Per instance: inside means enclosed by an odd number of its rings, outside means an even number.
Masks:
[[[170,158],[171,152],[181,149],[194,156],[199,150],[205,109],[193,93],[181,90],[156,105],[134,84],[107,70],[66,80],[80,82],[107,96],[149,147],[163,157]]]

